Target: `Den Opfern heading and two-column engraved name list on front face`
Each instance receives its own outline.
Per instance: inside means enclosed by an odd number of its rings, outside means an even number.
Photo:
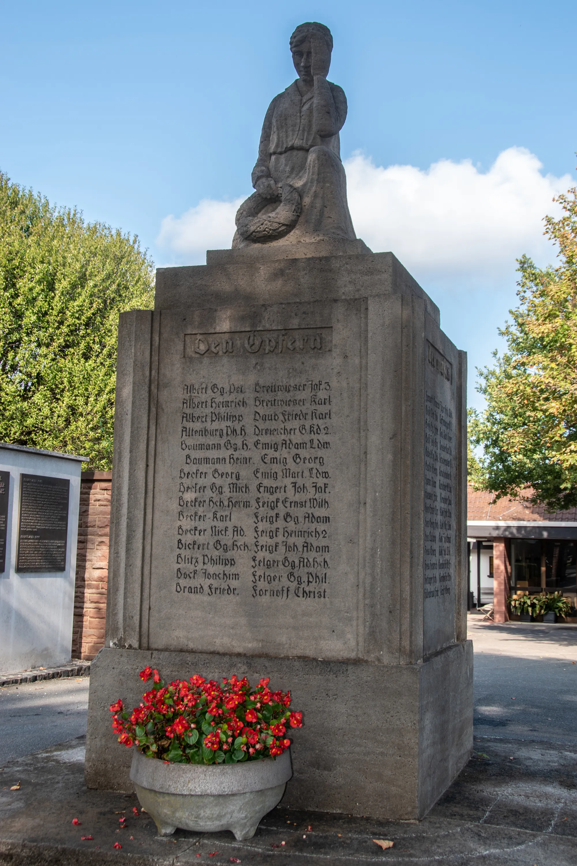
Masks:
[[[330,348],[330,328],[185,337],[189,357],[278,358]],[[183,384],[175,411],[175,592],[211,604],[324,604],[333,529],[332,381],[299,377],[293,368],[267,375],[265,366],[236,380],[222,371]]]

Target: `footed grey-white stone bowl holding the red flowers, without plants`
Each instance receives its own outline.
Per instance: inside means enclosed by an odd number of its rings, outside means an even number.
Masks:
[[[292,776],[290,749],[277,759],[243,764],[165,764],[134,750],[131,779],[140,805],[158,833],[232,830],[237,839],[254,836],[260,819],[285,793]]]

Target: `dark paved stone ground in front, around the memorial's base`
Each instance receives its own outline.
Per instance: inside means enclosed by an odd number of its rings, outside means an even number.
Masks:
[[[231,833],[157,837],[135,796],[87,791],[83,740],[11,762],[0,791],[0,863],[577,863],[577,748],[480,740],[465,771],[421,822],[275,809],[253,839]],[[512,760],[511,760],[512,759]],[[11,785],[20,783],[17,791]],[[119,830],[119,816],[126,828]],[[78,818],[80,826],[72,824]],[[80,840],[92,836],[93,840]],[[373,839],[389,839],[381,850]],[[22,844],[22,840],[25,843]],[[121,850],[113,844],[120,843]],[[283,844],[284,843],[284,844]]]

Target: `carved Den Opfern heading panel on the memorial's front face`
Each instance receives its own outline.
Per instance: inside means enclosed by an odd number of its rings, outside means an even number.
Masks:
[[[331,349],[331,327],[184,334],[185,358],[330,352]]]

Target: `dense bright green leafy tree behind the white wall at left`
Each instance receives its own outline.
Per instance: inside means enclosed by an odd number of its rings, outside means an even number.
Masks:
[[[152,307],[153,281],[137,237],[0,172],[1,441],[111,469],[119,313]]]

